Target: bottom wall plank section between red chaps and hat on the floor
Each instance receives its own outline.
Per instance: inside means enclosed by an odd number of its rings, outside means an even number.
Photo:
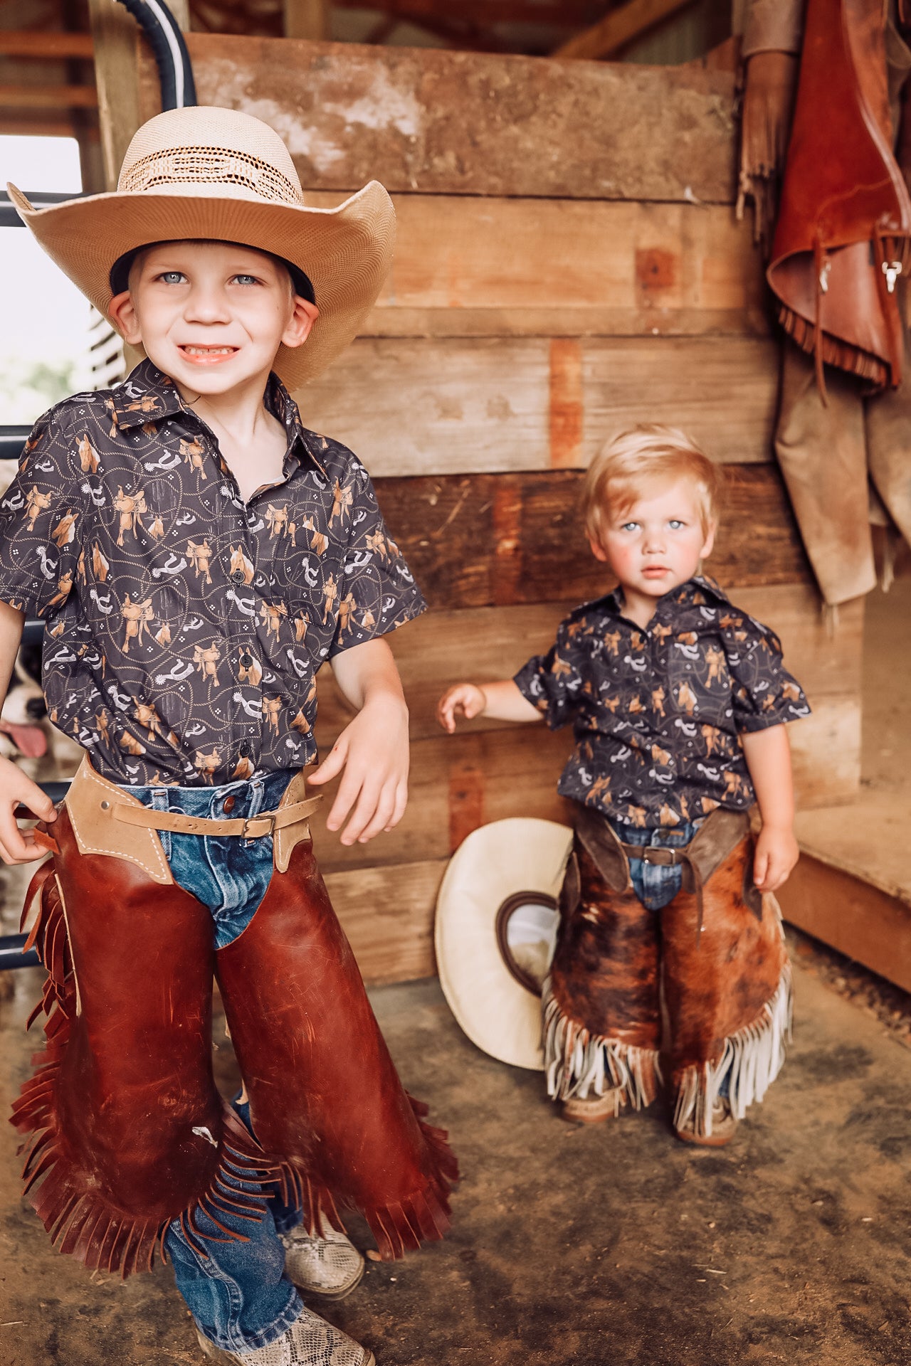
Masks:
[[[328,873],[326,888],[367,985],[432,977],[433,915],[447,859]]]

